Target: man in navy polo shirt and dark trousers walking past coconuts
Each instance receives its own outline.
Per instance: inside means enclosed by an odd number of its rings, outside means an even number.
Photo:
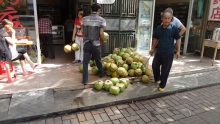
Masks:
[[[173,14],[169,11],[164,11],[161,15],[162,24],[156,28],[153,35],[153,46],[149,51],[152,56],[154,49],[157,46],[157,51],[154,55],[152,69],[155,82],[160,80],[159,91],[164,91],[167,83],[167,78],[173,64],[174,57],[174,39],[176,41],[176,58],[180,57],[180,35],[178,28],[171,24]]]

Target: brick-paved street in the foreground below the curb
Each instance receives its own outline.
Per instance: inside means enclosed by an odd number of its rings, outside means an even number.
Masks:
[[[22,124],[220,124],[220,85]]]

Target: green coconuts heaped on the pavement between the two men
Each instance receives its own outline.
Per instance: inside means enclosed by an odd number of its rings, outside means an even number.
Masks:
[[[137,53],[134,48],[128,47],[128,48],[114,48],[113,53],[109,54],[108,56],[105,56],[102,58],[103,68],[105,71],[106,76],[110,76],[111,79],[107,81],[97,81],[94,84],[94,88],[97,90],[100,90],[105,87],[106,82],[112,82],[112,88],[109,88],[109,91],[115,89],[116,87],[119,87],[118,85],[121,85],[121,82],[124,82],[126,80],[128,82],[128,77],[140,77],[141,82],[148,83],[149,82],[149,76],[152,75],[152,70],[148,68],[148,61],[144,61],[144,56]],[[92,73],[95,75],[99,74],[98,68],[95,64],[95,61],[90,60],[90,67],[92,68]],[[83,65],[81,64],[79,66],[80,71],[83,70]],[[117,81],[112,81],[112,79]],[[122,80],[122,81],[121,81]],[[116,83],[115,83],[116,82]],[[128,84],[130,83],[130,80]],[[99,84],[99,86],[97,86]],[[117,85],[118,84],[118,85]],[[109,85],[108,85],[109,86]],[[100,87],[100,88],[97,88]],[[102,87],[102,88],[101,88]],[[125,86],[127,87],[127,86]],[[108,89],[108,88],[107,88]],[[112,90],[110,90],[112,89]],[[116,88],[117,89],[117,88]],[[121,88],[119,87],[120,92]],[[123,88],[122,88],[123,89]],[[114,91],[115,92],[115,91]],[[115,94],[115,93],[112,93]]]

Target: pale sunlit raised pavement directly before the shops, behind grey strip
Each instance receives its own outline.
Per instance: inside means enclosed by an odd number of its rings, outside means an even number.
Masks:
[[[150,59],[149,67],[151,67],[152,60],[153,57]],[[220,67],[219,60],[215,61],[214,66],[211,66],[211,63],[211,58],[204,58],[202,63],[200,63],[199,56],[182,56],[181,59],[174,60],[170,76],[206,72],[216,70],[216,68]],[[29,65],[27,65],[27,67],[28,66]],[[84,86],[81,83],[82,73],[79,72],[78,66],[79,64],[71,64],[71,60],[46,60],[40,68],[36,69],[33,75],[23,76],[21,72],[18,72],[17,78],[13,83],[0,81],[0,98],[11,97],[14,93],[27,91],[46,89],[76,90],[92,87],[94,81],[99,78],[89,71],[90,85]],[[20,66],[17,66],[17,68],[21,70]],[[109,77],[105,77],[104,79],[109,79]]]

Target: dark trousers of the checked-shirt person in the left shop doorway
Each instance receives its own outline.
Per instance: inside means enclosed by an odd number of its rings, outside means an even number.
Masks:
[[[52,34],[40,34],[41,50],[45,57],[48,57],[48,47],[50,50],[50,58],[55,58],[53,35]]]

